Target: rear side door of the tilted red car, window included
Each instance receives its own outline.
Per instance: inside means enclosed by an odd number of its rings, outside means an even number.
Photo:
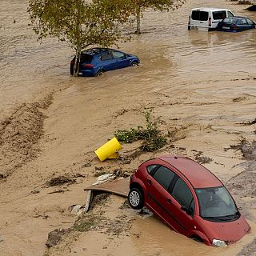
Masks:
[[[174,172],[166,168],[166,166],[158,166],[153,172],[149,172],[146,177],[146,205],[149,206],[154,214],[158,215],[158,217],[162,218],[170,226],[173,225],[169,220],[170,216],[166,211],[165,204],[168,194],[167,190],[174,176]]]

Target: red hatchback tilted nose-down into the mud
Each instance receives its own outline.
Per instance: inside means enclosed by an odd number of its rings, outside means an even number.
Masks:
[[[226,187],[204,166],[164,155],[142,163],[130,177],[130,206],[146,206],[178,233],[209,246],[237,242],[250,231]]]

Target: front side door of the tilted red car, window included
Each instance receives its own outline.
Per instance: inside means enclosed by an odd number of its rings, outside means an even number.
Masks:
[[[166,210],[172,214],[176,230],[182,234],[189,234],[194,230],[194,197],[189,186],[182,178],[178,178],[171,193],[166,195]]]

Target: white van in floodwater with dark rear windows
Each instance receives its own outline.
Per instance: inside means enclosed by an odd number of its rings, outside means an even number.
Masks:
[[[233,17],[234,14],[227,9],[217,8],[194,8],[191,10],[189,30],[215,30],[218,22],[223,18]]]

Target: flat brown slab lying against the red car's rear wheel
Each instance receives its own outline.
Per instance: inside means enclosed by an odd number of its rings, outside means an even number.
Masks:
[[[104,182],[102,184],[89,186],[89,187],[86,187],[86,189],[84,189],[84,190],[85,191],[92,190],[92,191],[110,192],[113,194],[118,194],[124,198],[127,198],[129,190],[130,190],[129,184],[130,184],[130,177],[116,179],[114,181]]]

